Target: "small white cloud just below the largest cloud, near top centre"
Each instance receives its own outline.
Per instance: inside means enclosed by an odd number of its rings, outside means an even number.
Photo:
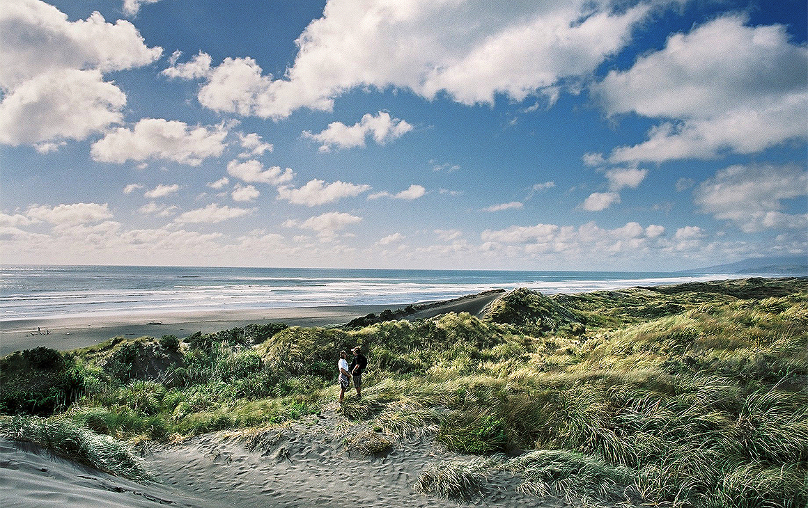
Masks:
[[[347,126],[342,122],[331,122],[326,130],[312,134],[303,131],[304,137],[309,137],[322,143],[321,152],[328,152],[332,148],[353,148],[364,146],[365,138],[370,135],[379,145],[393,141],[412,130],[412,125],[398,118],[391,118],[389,113],[379,111],[376,116],[370,113],[362,116],[360,122]]]

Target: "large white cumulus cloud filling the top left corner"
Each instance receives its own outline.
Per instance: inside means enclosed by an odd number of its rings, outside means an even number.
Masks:
[[[69,22],[39,0],[8,0],[0,11],[0,143],[83,140],[119,123],[125,94],[103,74],[147,65],[149,48],[132,23],[94,12]],[[41,145],[55,147],[57,145]]]

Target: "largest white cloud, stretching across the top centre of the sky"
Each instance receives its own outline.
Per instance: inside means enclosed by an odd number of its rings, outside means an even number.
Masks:
[[[465,104],[493,103],[497,94],[553,98],[564,78],[587,76],[624,48],[651,10],[587,0],[508,9],[457,0],[331,0],[298,38],[283,78],[264,74],[252,58],[228,57],[201,76],[198,99],[215,111],[280,118],[300,107],[330,110],[335,97],[356,87],[393,86],[427,99],[445,93]]]

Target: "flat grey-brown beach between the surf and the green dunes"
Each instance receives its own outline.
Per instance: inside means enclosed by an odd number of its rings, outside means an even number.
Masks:
[[[467,312],[478,315],[501,293],[481,293],[456,300],[433,302],[427,308],[404,318],[414,320],[448,312]],[[425,304],[421,302],[420,304]],[[401,306],[402,308],[404,305]],[[0,356],[14,351],[47,346],[59,351],[95,346],[113,337],[160,338],[176,335],[179,338],[196,332],[205,334],[243,327],[249,324],[286,323],[297,326],[343,325],[356,317],[381,313],[385,309],[398,309],[390,305],[345,305],[334,307],[300,307],[292,309],[225,310],[196,313],[150,313],[101,315],[96,317],[58,317],[0,321]],[[47,333],[46,335],[43,335]]]

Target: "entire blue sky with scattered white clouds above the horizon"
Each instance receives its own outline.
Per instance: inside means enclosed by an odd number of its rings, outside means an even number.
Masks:
[[[804,0],[5,0],[0,262],[808,256]]]

